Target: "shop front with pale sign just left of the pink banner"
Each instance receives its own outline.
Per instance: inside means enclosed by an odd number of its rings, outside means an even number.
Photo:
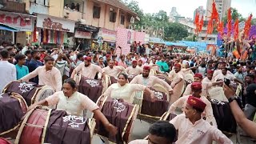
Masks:
[[[96,39],[93,43],[92,48],[102,51],[110,51],[116,48],[117,32],[114,30],[108,30],[105,28],[100,28],[98,35],[94,38]]]

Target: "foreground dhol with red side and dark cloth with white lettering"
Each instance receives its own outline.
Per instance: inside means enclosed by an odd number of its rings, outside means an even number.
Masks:
[[[36,108],[26,114],[15,143],[90,144],[94,129],[90,124],[90,119],[68,115],[63,110]]]

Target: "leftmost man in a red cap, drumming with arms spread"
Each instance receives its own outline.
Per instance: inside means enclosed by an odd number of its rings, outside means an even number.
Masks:
[[[103,78],[105,78],[105,72],[102,70],[102,68],[100,66],[91,64],[90,62],[91,62],[91,58],[86,57],[85,61],[79,64],[78,67],[76,67],[73,70],[70,78],[74,78],[74,75],[79,73],[86,78],[94,79],[97,72],[102,73]]]

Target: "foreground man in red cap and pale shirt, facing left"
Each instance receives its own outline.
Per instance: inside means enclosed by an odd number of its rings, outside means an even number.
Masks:
[[[190,96],[186,101],[185,114],[179,114],[173,118],[172,123],[178,130],[178,140],[176,144],[197,143],[206,144],[213,141],[218,143],[233,143],[221,130],[210,126],[209,122],[202,119],[202,112],[206,108],[206,103],[200,98]]]

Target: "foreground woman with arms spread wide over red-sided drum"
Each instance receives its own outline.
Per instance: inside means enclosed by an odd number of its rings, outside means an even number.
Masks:
[[[57,105],[56,110],[66,110],[67,114],[79,116],[82,116],[83,110],[90,110],[94,113],[94,118],[101,121],[110,134],[117,134],[117,128],[110,124],[102,112],[98,110],[99,107],[97,104],[91,101],[86,95],[79,93],[76,87],[76,82],[68,78],[64,81],[62,91],[58,91],[42,101],[35,102],[28,110],[32,110],[38,105]]]

